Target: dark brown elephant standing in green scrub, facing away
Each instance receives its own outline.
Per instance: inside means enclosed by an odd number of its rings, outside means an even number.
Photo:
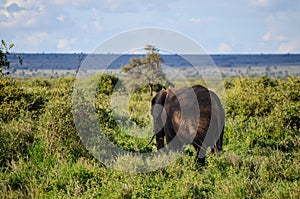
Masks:
[[[191,144],[197,161],[205,164],[206,149],[222,151],[225,113],[218,96],[201,85],[159,91],[151,102],[156,147],[181,150]]]

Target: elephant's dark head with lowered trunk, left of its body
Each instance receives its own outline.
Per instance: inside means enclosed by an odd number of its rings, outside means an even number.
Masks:
[[[152,142],[154,136],[156,136],[156,147],[161,149],[164,147],[164,125],[167,118],[167,113],[164,109],[165,99],[167,97],[167,91],[158,92],[151,102],[151,115],[153,117],[154,127],[153,136],[150,143]]]

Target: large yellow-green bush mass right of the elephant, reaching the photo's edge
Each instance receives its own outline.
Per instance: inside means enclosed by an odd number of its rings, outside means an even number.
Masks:
[[[246,148],[298,150],[300,128],[300,81],[239,78],[227,89],[226,110],[229,132]],[[244,148],[243,147],[243,148]]]

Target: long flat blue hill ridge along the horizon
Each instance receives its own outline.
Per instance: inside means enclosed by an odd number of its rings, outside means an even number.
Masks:
[[[82,63],[87,67],[119,69],[130,58],[143,55],[126,54],[19,54],[10,55],[11,69],[16,70],[76,70]],[[89,57],[88,57],[89,56]],[[86,58],[89,59],[86,59]],[[164,64],[170,67],[210,66],[219,67],[247,66],[300,66],[300,54],[245,54],[245,55],[162,55]]]

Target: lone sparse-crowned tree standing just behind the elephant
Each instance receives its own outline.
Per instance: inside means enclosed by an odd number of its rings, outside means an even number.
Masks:
[[[144,49],[145,57],[132,57],[128,64],[121,67],[121,71],[127,73],[133,80],[148,84],[152,96],[153,84],[166,79],[161,68],[163,60],[159,50],[154,46],[147,45]]]

